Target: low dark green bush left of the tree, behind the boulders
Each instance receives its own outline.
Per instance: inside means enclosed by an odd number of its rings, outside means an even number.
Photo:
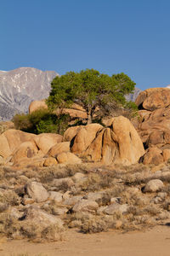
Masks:
[[[44,108],[38,109],[31,114],[16,114],[13,118],[15,129],[35,134],[42,132],[63,134],[68,128],[69,121],[69,115],[56,115]]]

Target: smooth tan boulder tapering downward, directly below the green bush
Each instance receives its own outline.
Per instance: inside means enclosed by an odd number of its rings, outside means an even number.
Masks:
[[[55,133],[42,133],[34,137],[34,141],[37,144],[43,154],[47,154],[48,150],[52,148],[56,143],[61,143],[63,137]]]

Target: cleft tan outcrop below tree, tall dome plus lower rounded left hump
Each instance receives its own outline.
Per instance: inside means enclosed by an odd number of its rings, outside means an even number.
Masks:
[[[111,120],[111,126],[86,125],[77,130],[71,152],[102,162],[130,165],[138,162],[144,147],[131,122],[120,116]]]

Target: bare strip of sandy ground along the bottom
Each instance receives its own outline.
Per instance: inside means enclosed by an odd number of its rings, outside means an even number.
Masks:
[[[170,226],[126,234],[111,231],[83,235],[70,230],[64,241],[51,243],[1,242],[0,255],[19,256],[20,253],[29,256],[169,256]]]

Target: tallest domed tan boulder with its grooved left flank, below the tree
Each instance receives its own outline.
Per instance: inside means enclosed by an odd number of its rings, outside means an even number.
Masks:
[[[108,165],[112,162],[134,164],[143,154],[143,143],[137,131],[131,122],[122,116],[112,119],[110,128],[99,131],[84,153],[88,159]]]

